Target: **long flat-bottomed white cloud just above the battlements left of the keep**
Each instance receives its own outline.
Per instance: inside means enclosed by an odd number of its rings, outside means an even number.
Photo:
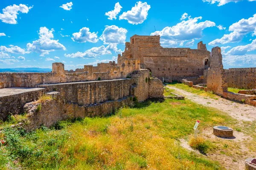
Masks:
[[[82,52],[76,52],[72,54],[64,54],[65,57],[70,57],[70,58],[95,58],[99,55],[105,55],[105,54],[112,54],[111,51],[108,50],[104,45],[100,47],[93,47],[84,53]]]

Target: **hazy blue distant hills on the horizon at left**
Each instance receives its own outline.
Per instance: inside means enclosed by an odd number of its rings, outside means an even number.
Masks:
[[[9,73],[47,73],[51,72],[50,68],[0,68],[0,73],[9,72]]]

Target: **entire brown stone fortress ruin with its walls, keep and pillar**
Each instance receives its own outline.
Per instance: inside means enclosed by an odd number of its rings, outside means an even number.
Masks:
[[[198,49],[163,48],[160,36],[134,35],[117,63],[84,65],[75,71],[52,63],[50,73],[0,73],[0,119],[26,112],[27,129],[34,129],[59,120],[113,113],[133,101],[163,98],[162,80],[256,105],[256,68],[226,70],[221,49],[207,51],[203,42]],[[228,87],[245,90],[234,94]],[[43,93],[52,100],[38,100]]]

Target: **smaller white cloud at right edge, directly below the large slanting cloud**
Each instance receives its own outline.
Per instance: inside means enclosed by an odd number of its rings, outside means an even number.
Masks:
[[[250,44],[247,45],[239,45],[237,47],[231,48],[230,51],[227,52],[229,55],[244,55],[248,51],[256,50],[256,39],[253,40]]]

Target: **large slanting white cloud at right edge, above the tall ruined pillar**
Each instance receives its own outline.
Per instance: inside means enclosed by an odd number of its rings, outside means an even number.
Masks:
[[[224,34],[220,39],[209,42],[209,45],[220,45],[230,42],[239,42],[246,34],[256,35],[256,14],[248,19],[241,19],[229,27],[230,34]]]

